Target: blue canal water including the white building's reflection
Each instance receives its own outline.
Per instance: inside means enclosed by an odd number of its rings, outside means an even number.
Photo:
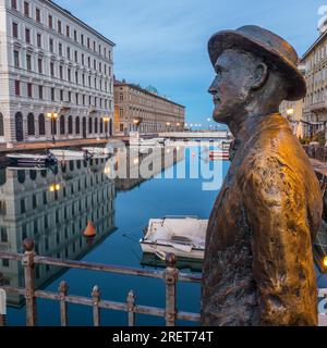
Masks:
[[[2,250],[22,252],[22,240],[32,237],[38,254],[159,270],[156,258],[144,257],[138,243],[148,220],[166,215],[208,219],[229,167],[229,162],[209,163],[207,148],[199,147],[183,149],[178,162],[170,164],[147,181],[108,178],[106,163],[101,160],[70,162],[55,172],[3,169],[0,187]],[[209,190],[204,189],[208,173],[201,174],[202,165],[209,165],[209,170],[219,173],[216,186]],[[199,177],[194,174],[197,171]],[[82,236],[88,220],[97,229],[92,245]],[[179,266],[181,272],[201,271],[198,263],[184,262]],[[161,279],[56,268],[38,266],[36,271],[38,286],[47,290],[58,291],[59,284],[65,281],[70,295],[90,297],[93,287],[98,285],[102,299],[124,302],[133,289],[138,304],[165,307]],[[23,270],[19,264],[4,262],[0,272],[12,286],[23,286]],[[198,284],[180,283],[178,309],[199,312],[199,293]],[[25,325],[22,299],[12,296],[9,301],[8,324]],[[60,325],[58,302],[38,299],[37,313],[39,325]],[[69,304],[70,325],[93,325],[92,318],[92,308]],[[104,310],[101,324],[126,325],[126,313]],[[164,325],[165,321],[137,314],[136,324]]]

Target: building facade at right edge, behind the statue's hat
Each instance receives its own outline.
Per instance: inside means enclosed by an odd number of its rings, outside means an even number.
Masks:
[[[307,95],[304,101],[303,128],[305,136],[323,132],[327,123],[327,32],[322,27],[318,39],[304,53]]]

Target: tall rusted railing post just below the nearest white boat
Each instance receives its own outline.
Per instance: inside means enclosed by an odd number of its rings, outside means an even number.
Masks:
[[[177,297],[175,286],[178,279],[178,270],[175,269],[175,256],[168,253],[166,257],[167,269],[164,277],[166,282],[166,325],[174,326],[177,319]]]

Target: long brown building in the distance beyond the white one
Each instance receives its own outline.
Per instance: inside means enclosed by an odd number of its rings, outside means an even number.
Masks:
[[[185,107],[159,96],[154,88],[114,80],[114,132],[182,130],[184,122]]]

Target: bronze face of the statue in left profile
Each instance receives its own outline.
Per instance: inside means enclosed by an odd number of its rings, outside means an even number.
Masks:
[[[214,96],[214,119],[218,123],[237,121],[244,113],[257,66],[250,53],[226,50],[215,65],[216,78],[209,94]]]

